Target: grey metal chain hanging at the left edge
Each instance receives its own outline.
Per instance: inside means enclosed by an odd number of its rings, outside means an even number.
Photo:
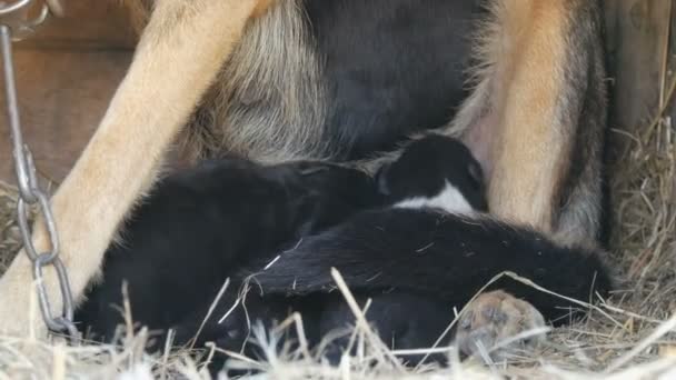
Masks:
[[[40,16],[34,20],[23,20],[17,16],[19,10],[24,9],[32,0],[19,0],[7,4],[0,2],[0,50],[2,54],[3,74],[4,74],[4,92],[7,101],[8,121],[12,134],[14,170],[17,173],[17,182],[19,184],[19,202],[17,203],[17,214],[19,220],[19,229],[23,239],[23,249],[33,266],[33,278],[37,282],[38,300],[40,312],[48,329],[52,332],[68,334],[71,342],[79,340],[79,332],[73,323],[73,303],[70,282],[66,266],[59,258],[59,237],[57,226],[51,211],[48,197],[40,190],[37,177],[36,166],[32,154],[28,146],[23,143],[21,134],[21,122],[19,120],[19,107],[17,102],[17,87],[14,83],[14,68],[12,58],[12,34],[32,32],[33,28],[44,21],[49,11],[58,13],[62,11],[58,0],[44,0]],[[54,8],[56,7],[56,8]],[[37,204],[42,220],[47,227],[47,232],[50,241],[50,250],[47,252],[38,252],[32,242],[32,233],[28,222],[28,207]],[[51,304],[48,292],[44,286],[43,268],[53,267],[59,289],[63,310],[61,316],[51,313]]]

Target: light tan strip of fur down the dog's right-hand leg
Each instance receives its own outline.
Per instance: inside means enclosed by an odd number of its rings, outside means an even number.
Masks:
[[[520,7],[519,7],[520,6]],[[505,1],[505,20],[510,34],[514,61],[506,62],[504,99],[497,99],[496,166],[490,177],[489,207],[505,219],[534,223],[551,231],[551,200],[560,186],[563,150],[568,144],[568,130],[557,124],[556,106],[560,94],[566,44],[566,9],[561,1]],[[516,27],[518,26],[518,27]],[[524,173],[528,173],[524,176]]]

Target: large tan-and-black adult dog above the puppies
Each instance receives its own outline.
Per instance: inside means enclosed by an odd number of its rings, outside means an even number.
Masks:
[[[74,297],[187,122],[201,154],[274,162],[364,158],[439,127],[479,158],[491,212],[594,240],[605,123],[598,3],[478,1],[127,0],[142,24],[133,61],[52,198]],[[48,248],[41,222],[33,241]],[[4,332],[28,330],[30,268],[19,254],[0,280]],[[51,271],[46,282],[58,312]]]

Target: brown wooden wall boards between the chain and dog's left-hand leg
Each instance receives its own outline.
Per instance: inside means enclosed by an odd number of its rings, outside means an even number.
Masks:
[[[67,17],[14,47],[23,133],[40,172],[60,181],[98,126],[129,64],[132,34],[115,1],[68,0]],[[3,91],[0,101],[4,104]],[[0,107],[0,180],[14,183]]]

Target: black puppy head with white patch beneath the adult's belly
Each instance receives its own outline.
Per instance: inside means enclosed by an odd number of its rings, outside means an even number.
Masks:
[[[399,159],[380,168],[376,181],[396,207],[488,210],[481,166],[457,139],[430,134],[412,141]]]

